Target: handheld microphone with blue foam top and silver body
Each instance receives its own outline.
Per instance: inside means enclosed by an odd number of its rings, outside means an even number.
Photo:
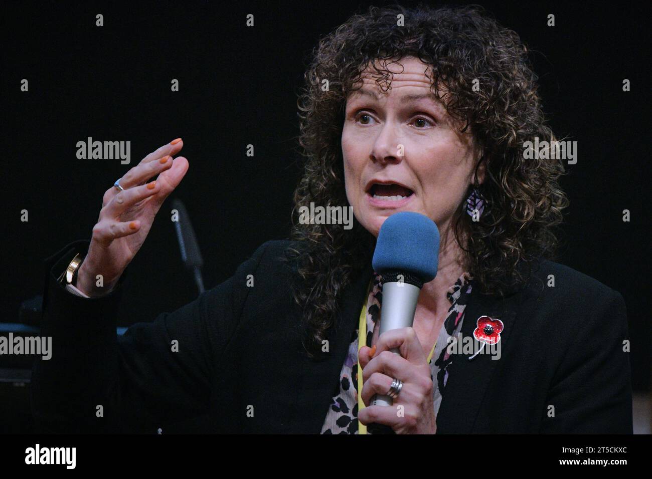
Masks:
[[[383,285],[380,335],[412,326],[421,287],[437,276],[438,263],[439,229],[428,216],[404,211],[385,220],[372,261]],[[400,354],[398,348],[392,351]],[[389,396],[372,399],[372,405],[392,404]]]

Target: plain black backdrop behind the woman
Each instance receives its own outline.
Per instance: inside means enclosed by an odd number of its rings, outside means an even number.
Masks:
[[[172,198],[193,221],[207,288],[265,240],[288,237],[303,162],[296,100],[310,50],[351,14],[384,4],[3,5],[3,321],[17,321],[20,302],[42,292],[45,257],[89,239],[113,181],[177,137],[190,169],[129,267],[122,324],[150,321],[197,295],[170,221]],[[638,390],[649,388],[652,349],[644,4],[482,2],[533,50],[550,124],[578,141],[578,163],[561,180],[571,207],[558,261],[625,297]],[[95,26],[98,13],[104,27]],[[245,25],[249,13],[254,27]],[[555,27],[546,25],[550,13]],[[131,164],[78,160],[76,143],[89,136],[131,141]],[[20,221],[22,209],[29,222]]]

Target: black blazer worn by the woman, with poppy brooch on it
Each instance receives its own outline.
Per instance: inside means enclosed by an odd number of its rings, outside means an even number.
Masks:
[[[293,273],[280,261],[288,245],[266,242],[229,280],[123,336],[115,334],[123,279],[110,295],[90,299],[56,282],[88,242],[48,258],[41,334],[52,336],[52,358],[39,357],[33,368],[37,425],[155,433],[200,417],[203,431],[319,433],[372,270],[343,291],[329,351],[310,360],[289,289]],[[619,293],[541,261],[532,280],[502,300],[473,288],[465,315],[464,336],[481,315],[503,321],[501,358],[453,360],[437,433],[632,433]]]

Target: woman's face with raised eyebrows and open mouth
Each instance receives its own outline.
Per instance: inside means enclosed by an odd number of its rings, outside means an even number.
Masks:
[[[470,134],[460,134],[460,125],[430,93],[426,64],[406,57],[388,68],[393,79],[387,93],[365,74],[362,89],[346,102],[346,196],[357,220],[375,236],[399,211],[424,214],[443,233],[466,199],[479,155]]]

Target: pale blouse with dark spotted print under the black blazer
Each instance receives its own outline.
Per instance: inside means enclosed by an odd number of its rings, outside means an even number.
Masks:
[[[466,272],[458,278],[446,293],[451,302],[448,315],[444,320],[435,351],[430,360],[430,373],[433,379],[435,415],[439,411],[441,398],[448,381],[448,367],[452,356],[446,351],[451,336],[457,336],[464,321],[464,309],[471,295],[471,277]],[[382,287],[380,276],[374,273],[372,288],[366,302],[366,345],[371,347],[378,340],[380,313],[382,304]],[[374,332],[376,334],[374,335]],[[430,352],[430,351],[428,351]],[[358,433],[358,328],[351,336],[348,355],[340,371],[340,381],[333,392],[333,402],[321,428],[322,434],[357,434]],[[367,429],[367,433],[370,434]]]

